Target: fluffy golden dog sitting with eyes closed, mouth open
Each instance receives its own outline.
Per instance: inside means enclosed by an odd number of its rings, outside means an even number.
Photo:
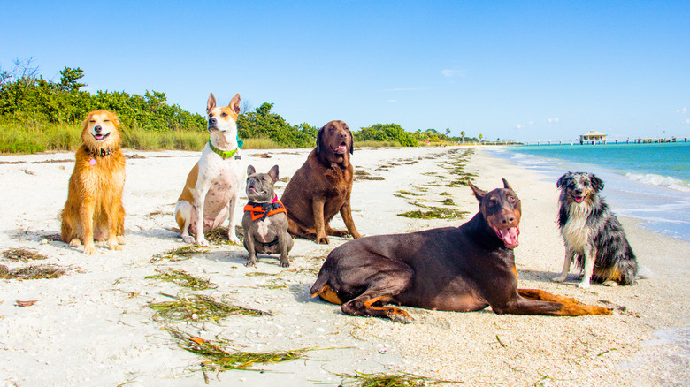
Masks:
[[[94,254],[94,239],[107,240],[111,250],[122,250],[125,208],[125,156],[119,148],[119,120],[110,111],[88,113],[81,131],[81,146],[62,210],[62,240],[72,247],[84,244]]]

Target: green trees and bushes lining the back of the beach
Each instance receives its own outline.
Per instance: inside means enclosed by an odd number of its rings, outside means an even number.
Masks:
[[[58,81],[45,80],[33,65],[33,59],[16,60],[12,70],[0,68],[0,123],[74,124],[91,110],[111,110],[125,128],[150,132],[206,130],[206,120],[198,113],[169,104],[165,93],[147,90],[144,95],[124,91],[81,90],[87,86],[80,80],[79,67],[60,71]],[[237,118],[242,139],[269,139],[285,147],[310,148],[316,142],[318,127],[306,123],[290,125],[285,118],[272,112],[272,103],[265,102],[254,111],[242,111]],[[407,132],[397,124],[375,124],[353,131],[357,141],[379,141],[412,147],[418,143],[471,142],[467,137],[450,137],[449,130],[435,129]]]

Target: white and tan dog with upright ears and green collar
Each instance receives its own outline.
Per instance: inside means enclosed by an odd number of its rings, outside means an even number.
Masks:
[[[234,95],[229,105],[217,107],[211,93],[206,113],[211,138],[189,172],[175,207],[175,220],[185,242],[194,242],[191,232],[196,234],[197,245],[208,246],[203,231],[214,229],[229,218],[227,238],[239,244],[234,232],[234,209],[244,180],[242,145],[235,123],[240,113],[240,94]]]

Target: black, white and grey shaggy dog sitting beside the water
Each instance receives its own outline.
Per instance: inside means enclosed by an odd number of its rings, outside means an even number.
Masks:
[[[577,265],[584,271],[580,288],[588,288],[590,280],[634,284],[637,260],[623,226],[599,194],[602,180],[592,173],[568,172],[556,186],[561,190],[558,226],[565,242],[565,261],[563,272],[553,280],[563,282],[577,257]]]

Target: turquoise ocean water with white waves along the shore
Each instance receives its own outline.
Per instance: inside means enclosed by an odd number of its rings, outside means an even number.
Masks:
[[[604,181],[602,195],[614,213],[642,226],[690,241],[690,142],[551,145],[486,148],[556,180],[586,171]]]

